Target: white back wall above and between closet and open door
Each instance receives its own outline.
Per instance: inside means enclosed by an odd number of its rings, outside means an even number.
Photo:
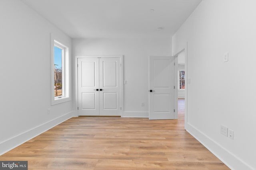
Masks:
[[[148,117],[148,56],[171,55],[171,39],[73,39],[73,57],[124,55],[124,114]],[[144,107],[141,103],[144,102]]]

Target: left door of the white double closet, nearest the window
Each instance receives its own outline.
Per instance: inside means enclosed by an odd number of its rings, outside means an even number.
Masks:
[[[99,60],[78,59],[78,115],[99,114]]]

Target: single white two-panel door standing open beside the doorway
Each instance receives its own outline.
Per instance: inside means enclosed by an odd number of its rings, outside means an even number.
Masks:
[[[149,57],[149,119],[174,119],[174,62],[171,56]]]

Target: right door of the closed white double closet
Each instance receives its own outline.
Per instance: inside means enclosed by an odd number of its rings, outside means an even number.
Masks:
[[[100,115],[120,113],[120,58],[100,58]]]

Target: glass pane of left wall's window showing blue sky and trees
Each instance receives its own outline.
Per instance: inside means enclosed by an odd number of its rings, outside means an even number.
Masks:
[[[62,96],[62,49],[54,46],[54,96]]]

